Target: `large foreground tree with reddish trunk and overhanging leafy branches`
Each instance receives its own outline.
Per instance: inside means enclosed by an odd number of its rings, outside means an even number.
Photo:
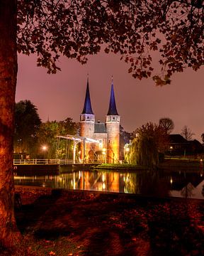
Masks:
[[[18,3],[18,6],[17,6]],[[13,124],[17,50],[37,53],[38,65],[55,73],[59,56],[86,63],[87,55],[119,53],[135,78],[157,85],[175,72],[203,65],[203,1],[196,0],[1,0],[0,1],[0,242],[12,245]],[[18,16],[18,18],[17,18]],[[152,50],[159,50],[160,75]]]

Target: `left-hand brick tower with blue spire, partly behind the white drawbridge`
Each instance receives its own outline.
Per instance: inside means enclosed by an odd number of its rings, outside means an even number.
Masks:
[[[80,114],[80,136],[93,138],[94,123],[95,123],[95,115],[91,107],[91,98],[89,93],[89,78],[88,78],[87,85],[86,85],[86,97],[84,100],[84,108]],[[86,158],[89,155],[89,151],[90,151],[90,144],[81,143],[81,159],[84,159],[84,157]],[[85,156],[84,156],[84,152],[85,152]]]

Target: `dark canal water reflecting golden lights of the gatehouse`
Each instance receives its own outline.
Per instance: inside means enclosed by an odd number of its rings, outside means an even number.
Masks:
[[[204,199],[203,171],[73,171],[60,175],[15,176],[16,185]]]

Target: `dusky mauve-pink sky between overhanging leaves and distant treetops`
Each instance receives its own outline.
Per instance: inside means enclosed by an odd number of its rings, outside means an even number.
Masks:
[[[18,55],[16,102],[30,100],[42,122],[71,117],[79,122],[86,93],[87,73],[91,105],[96,120],[105,121],[111,91],[111,77],[121,124],[132,132],[146,122],[159,123],[162,117],[174,121],[173,134],[187,125],[201,142],[204,132],[204,68],[175,74],[171,85],[157,87],[152,79],[142,81],[128,74],[129,65],[115,54],[91,56],[86,65],[60,58],[61,72],[48,75],[36,65],[35,55]]]

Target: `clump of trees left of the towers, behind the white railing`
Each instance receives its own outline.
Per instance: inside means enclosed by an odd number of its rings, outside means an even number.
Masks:
[[[38,109],[30,100],[16,103],[14,151],[26,153],[30,157],[45,157],[55,159],[57,150],[57,135],[74,135],[79,125],[67,117],[63,121],[42,123]],[[43,151],[42,146],[46,146]],[[60,159],[72,159],[73,143],[63,140],[59,144]]]

